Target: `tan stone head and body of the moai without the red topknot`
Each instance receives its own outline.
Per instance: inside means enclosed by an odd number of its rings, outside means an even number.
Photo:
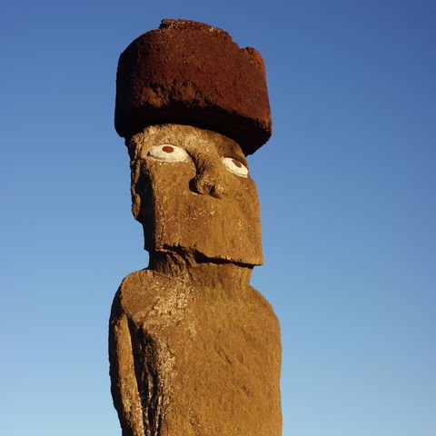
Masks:
[[[247,152],[149,121],[125,143],[150,264],[124,278],[109,325],[123,436],[279,436],[280,326],[249,284],[263,254]]]

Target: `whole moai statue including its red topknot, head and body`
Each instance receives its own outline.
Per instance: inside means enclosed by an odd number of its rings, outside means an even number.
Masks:
[[[248,172],[271,135],[261,55],[163,20],[120,57],[115,127],[131,158],[148,268],[114,297],[109,355],[124,436],[278,436],[280,327]]]

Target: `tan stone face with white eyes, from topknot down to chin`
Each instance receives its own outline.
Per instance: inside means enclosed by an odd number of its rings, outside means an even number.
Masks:
[[[189,125],[149,126],[127,142],[134,217],[148,251],[262,264],[260,209],[241,147]]]

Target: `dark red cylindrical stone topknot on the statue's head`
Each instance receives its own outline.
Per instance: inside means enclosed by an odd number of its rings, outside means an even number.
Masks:
[[[186,20],[163,20],[134,40],[118,64],[116,131],[129,137],[165,123],[225,134],[253,154],[272,134],[261,54]]]

